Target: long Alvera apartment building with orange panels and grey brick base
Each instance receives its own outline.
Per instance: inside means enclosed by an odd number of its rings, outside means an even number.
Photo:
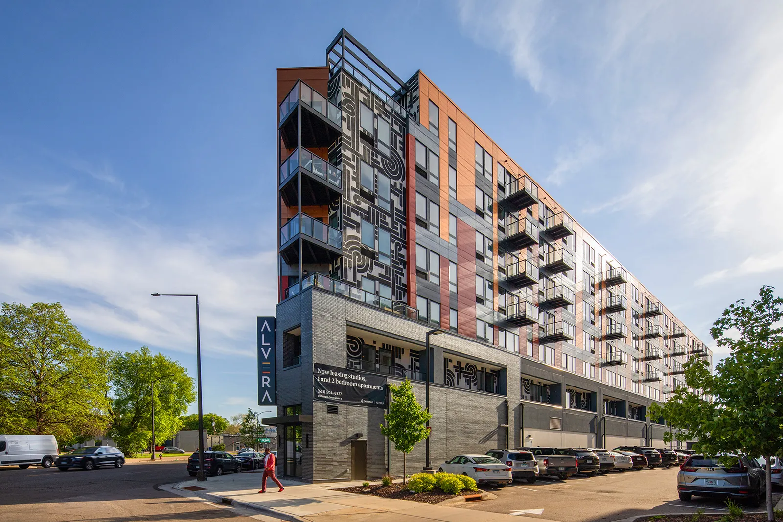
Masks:
[[[423,404],[430,381],[433,415],[408,470],[427,448],[437,470],[491,448],[663,444],[649,405],[710,351],[500,144],[345,30],[325,66],[277,78],[279,416],[264,422],[284,475],[401,473],[380,426],[405,378]]]

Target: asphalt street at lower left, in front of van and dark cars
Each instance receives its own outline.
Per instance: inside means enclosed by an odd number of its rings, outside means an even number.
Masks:
[[[195,497],[162,491],[162,484],[189,481],[182,460],[129,461],[122,468],[60,471],[0,467],[2,522],[135,522],[140,520],[251,520],[254,515]],[[272,520],[254,516],[255,520]]]

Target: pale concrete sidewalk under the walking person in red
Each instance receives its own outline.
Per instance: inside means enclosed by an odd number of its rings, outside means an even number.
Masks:
[[[519,517],[503,513],[491,513],[476,509],[460,509],[407,500],[384,499],[372,495],[332,491],[361,485],[361,482],[340,484],[305,484],[282,480],[285,490],[277,491],[268,481],[266,493],[258,493],[262,473],[229,473],[222,477],[209,477],[206,482],[186,481],[172,485],[171,491],[179,494],[199,495],[212,502],[223,502],[232,506],[255,509],[259,513],[281,520],[305,520],[307,522],[550,522],[539,517]],[[193,490],[187,488],[204,488]],[[492,502],[485,501],[485,502]]]

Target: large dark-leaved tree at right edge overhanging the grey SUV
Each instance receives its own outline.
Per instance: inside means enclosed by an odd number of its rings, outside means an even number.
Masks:
[[[774,520],[770,455],[783,455],[783,299],[772,290],[763,286],[749,305],[736,301],[714,323],[710,335],[729,350],[714,374],[707,362],[691,359],[685,365],[687,386],[651,407],[652,416],[698,439],[699,452],[765,456],[768,520]]]

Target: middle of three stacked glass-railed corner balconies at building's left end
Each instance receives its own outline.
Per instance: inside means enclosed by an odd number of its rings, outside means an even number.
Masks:
[[[340,167],[300,147],[280,165],[280,197],[288,207],[298,205],[297,173],[302,174],[302,206],[328,205],[342,195]]]

